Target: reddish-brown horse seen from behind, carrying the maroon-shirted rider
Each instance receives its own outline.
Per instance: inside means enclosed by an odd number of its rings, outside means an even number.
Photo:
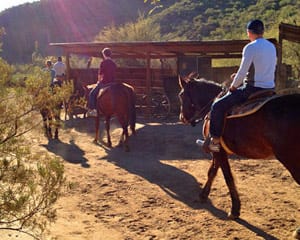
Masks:
[[[110,138],[110,119],[115,116],[121,125],[123,131],[120,137],[119,145],[123,145],[125,151],[129,151],[128,145],[128,127],[135,135],[136,124],[136,94],[134,88],[126,83],[112,83],[100,89],[97,95],[97,117],[95,118],[95,139],[99,140],[100,118],[104,116],[107,133],[107,146],[112,147]]]

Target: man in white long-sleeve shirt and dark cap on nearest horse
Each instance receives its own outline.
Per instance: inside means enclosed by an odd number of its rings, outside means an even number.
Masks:
[[[275,88],[276,48],[263,37],[263,33],[262,21],[256,19],[248,22],[250,43],[243,49],[241,64],[237,73],[232,75],[229,92],[212,104],[210,137],[205,141],[196,140],[196,144],[208,146],[211,152],[220,151],[226,112],[234,105],[245,102],[252,93]]]

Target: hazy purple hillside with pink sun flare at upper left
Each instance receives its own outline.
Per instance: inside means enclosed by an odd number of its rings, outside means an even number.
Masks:
[[[51,55],[50,42],[92,41],[104,26],[135,20],[146,7],[141,0],[41,0],[7,9],[0,13],[6,31],[1,56],[29,62],[36,41],[44,56]]]

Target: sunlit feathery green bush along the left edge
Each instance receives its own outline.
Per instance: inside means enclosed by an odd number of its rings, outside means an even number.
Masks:
[[[48,91],[42,79],[48,76],[30,66],[25,84],[12,88],[13,68],[0,58],[0,69],[0,230],[38,239],[47,223],[55,220],[53,204],[65,182],[61,161],[32,153],[28,139],[39,126],[36,119],[45,99],[41,94]]]

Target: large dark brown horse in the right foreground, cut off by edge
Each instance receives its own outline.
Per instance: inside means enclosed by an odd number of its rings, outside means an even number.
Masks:
[[[203,135],[208,137],[207,114],[222,85],[206,79],[186,79],[179,76],[180,120],[194,126],[205,119]],[[242,116],[227,116],[221,149],[212,153],[208,179],[200,193],[200,200],[208,199],[213,180],[221,168],[231,197],[229,219],[240,216],[241,202],[228,162],[229,154],[245,158],[275,157],[300,184],[300,94],[269,97],[257,111]],[[230,150],[230,151],[229,151]]]

